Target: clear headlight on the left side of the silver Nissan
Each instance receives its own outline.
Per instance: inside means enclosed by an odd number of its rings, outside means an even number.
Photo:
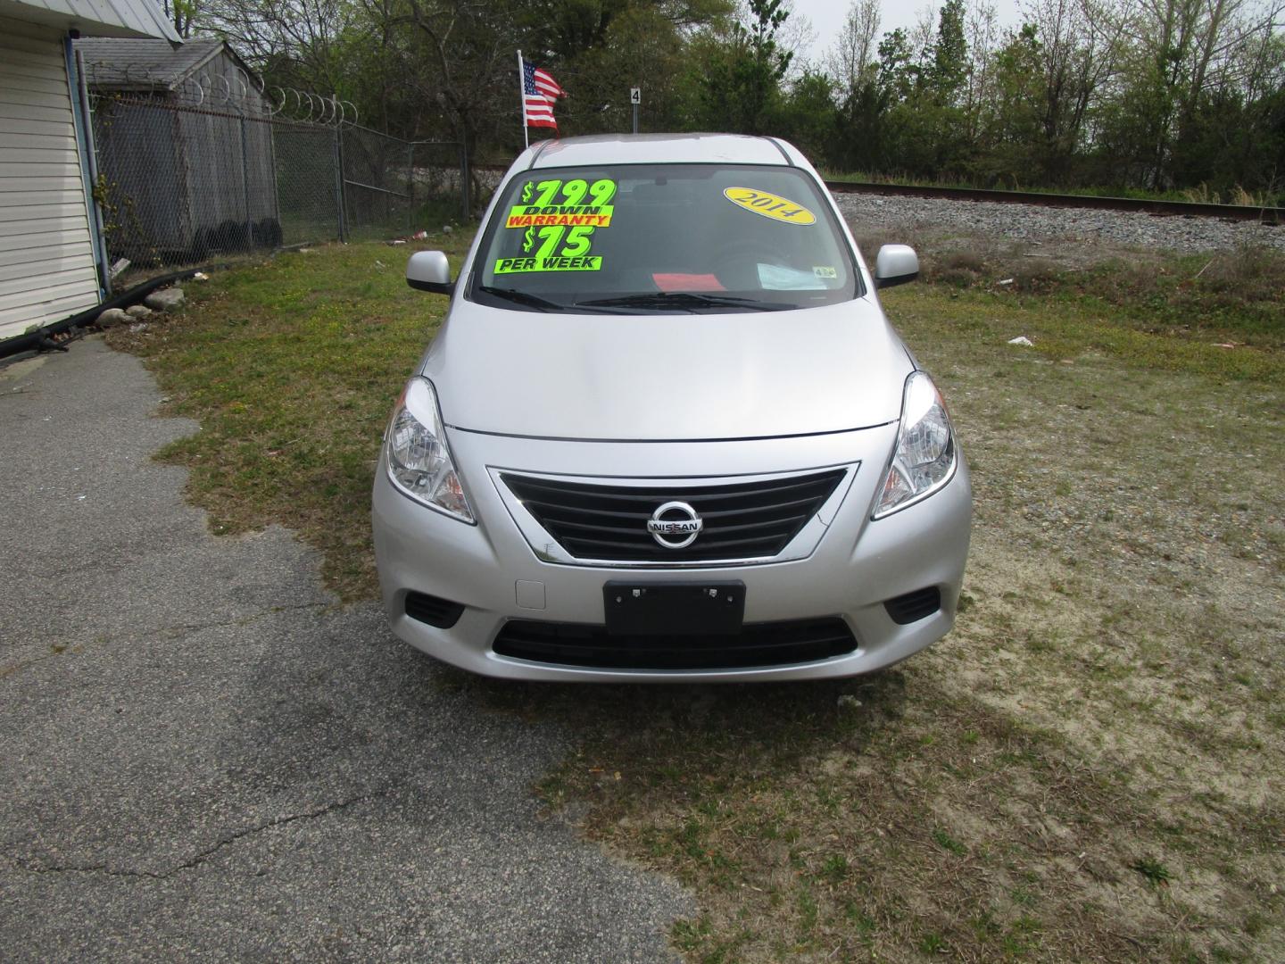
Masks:
[[[406,383],[384,441],[388,477],[394,486],[430,509],[473,522],[473,510],[446,447],[437,393],[429,382],[412,378]]]

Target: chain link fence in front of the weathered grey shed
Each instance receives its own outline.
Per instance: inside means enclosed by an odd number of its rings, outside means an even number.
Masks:
[[[468,217],[459,144],[284,120],[252,96],[209,100],[181,89],[91,98],[109,262],[193,263]]]

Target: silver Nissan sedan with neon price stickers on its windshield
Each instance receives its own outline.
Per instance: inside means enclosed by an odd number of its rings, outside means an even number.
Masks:
[[[509,168],[374,483],[393,631],[526,680],[801,680],[944,635],[968,469],[792,145],[545,141]]]

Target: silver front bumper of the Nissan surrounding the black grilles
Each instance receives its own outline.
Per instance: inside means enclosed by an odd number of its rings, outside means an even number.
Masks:
[[[375,472],[373,526],[384,608],[393,631],[412,647],[464,670],[553,681],[750,681],[852,676],[891,666],[928,647],[955,621],[971,526],[971,492],[962,455],[951,481],[928,499],[871,521],[897,425],[825,436],[729,442],[572,442],[499,437],[447,429],[477,524],[420,505],[388,479],[386,455]],[[727,478],[849,465],[851,483],[810,555],[752,566],[641,568],[545,562],[519,531],[491,469],[589,478]],[[511,501],[511,500],[510,500]],[[533,662],[496,653],[510,620],[604,623],[608,581],[745,585],[744,621],[768,623],[840,617],[853,652],[774,666],[646,670]],[[520,584],[520,585],[519,585]],[[885,602],[925,587],[941,593],[932,614],[901,625]],[[450,629],[406,614],[409,593],[464,605]]]

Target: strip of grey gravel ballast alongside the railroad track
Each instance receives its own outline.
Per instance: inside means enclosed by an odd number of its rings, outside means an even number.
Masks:
[[[858,234],[980,234],[1006,239],[1074,240],[1108,247],[1219,251],[1268,244],[1285,251],[1285,228],[1216,217],[1159,217],[1128,211],[1056,208],[989,201],[835,195]]]

